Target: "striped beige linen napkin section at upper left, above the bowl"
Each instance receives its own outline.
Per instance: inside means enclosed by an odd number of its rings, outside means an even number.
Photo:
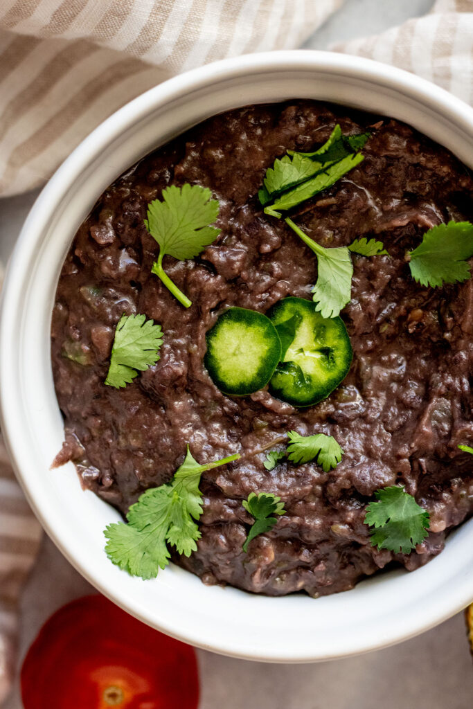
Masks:
[[[0,196],[47,182],[81,140],[187,69],[296,48],[343,0],[4,0]]]

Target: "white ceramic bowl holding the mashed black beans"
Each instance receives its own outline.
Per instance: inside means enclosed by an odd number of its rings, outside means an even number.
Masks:
[[[396,570],[314,601],[207,587],[169,566],[154,581],[128,576],[104,553],[118,513],[83,492],[72,464],[50,470],[62,418],[50,363],[50,320],[69,244],[101,192],[153,148],[215,113],[293,98],[336,101],[394,116],[473,167],[473,110],[411,74],[327,52],[273,52],[218,62],[171,79],[108,118],[40,194],[13,253],[0,317],[2,426],[31,506],[63,554],[129,613],[181,640],[268,661],[316,661],[399,642],[473,598],[473,520],[445,550],[408,574]]]

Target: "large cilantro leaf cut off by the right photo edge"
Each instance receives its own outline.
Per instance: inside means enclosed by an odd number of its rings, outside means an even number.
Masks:
[[[423,286],[461,283],[470,277],[467,259],[473,256],[473,224],[439,224],[424,234],[422,243],[408,253],[413,279]]]

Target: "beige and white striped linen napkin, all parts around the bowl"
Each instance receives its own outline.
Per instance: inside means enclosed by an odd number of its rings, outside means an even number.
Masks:
[[[0,195],[44,184],[95,126],[158,82],[206,62],[295,48],[343,0],[0,0]],[[473,103],[473,0],[336,45]],[[16,598],[40,532],[0,443],[0,703]]]

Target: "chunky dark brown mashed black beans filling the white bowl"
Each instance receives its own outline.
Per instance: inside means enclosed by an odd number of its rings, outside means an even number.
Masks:
[[[265,313],[286,296],[311,298],[317,264],[284,220],[257,199],[265,170],[287,149],[313,150],[336,123],[369,127],[365,160],[292,218],[325,247],[376,237],[391,257],[353,256],[352,301],[341,313],[354,357],[328,399],[297,410],[267,391],[230,398],[203,364],[206,331],[226,306]],[[315,146],[315,147],[314,147]],[[165,257],[188,310],[151,273],[158,247],[143,224],[169,184],[209,187],[221,235],[194,260]],[[206,584],[257,593],[321,596],[352,588],[396,562],[416,569],[473,511],[473,281],[425,288],[405,260],[426,230],[473,219],[473,180],[447,150],[403,123],[315,101],[250,106],[209,119],[138,162],[97,201],[62,268],[52,316],[52,366],[66,442],[85,488],[126,513],[140,493],[172,478],[189,445],[205,463],[238,462],[202,476],[201,540],[174,561]],[[162,325],[160,360],[125,389],[106,386],[123,313]],[[284,434],[325,432],[345,454],[330,472],[265,454]],[[372,547],[363,523],[374,491],[392,484],[430,512],[411,554]],[[253,522],[242,500],[266,491],[286,515],[242,550]],[[87,520],[84,520],[87,524]]]

